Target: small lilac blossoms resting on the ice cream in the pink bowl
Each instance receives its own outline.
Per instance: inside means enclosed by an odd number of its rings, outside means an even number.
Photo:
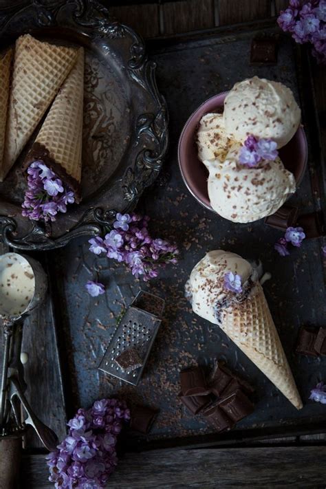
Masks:
[[[275,160],[279,154],[276,148],[276,142],[271,139],[258,139],[249,135],[241,147],[239,163],[252,168],[261,160]]]

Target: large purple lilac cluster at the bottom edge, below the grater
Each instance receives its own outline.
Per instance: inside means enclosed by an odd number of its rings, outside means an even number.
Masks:
[[[47,455],[49,480],[56,488],[100,489],[116,468],[117,436],[130,420],[124,402],[103,399],[91,409],[78,409],[68,422],[69,433],[55,452]]]

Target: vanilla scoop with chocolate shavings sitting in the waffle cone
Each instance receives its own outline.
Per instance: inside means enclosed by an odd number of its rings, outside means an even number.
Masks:
[[[217,323],[217,302],[228,293],[224,289],[224,276],[228,272],[240,275],[244,283],[252,275],[252,266],[239,254],[214,250],[208,252],[191,272],[187,287],[191,292],[193,312],[210,323]]]

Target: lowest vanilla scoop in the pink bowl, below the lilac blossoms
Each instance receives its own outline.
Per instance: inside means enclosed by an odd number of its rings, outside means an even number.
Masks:
[[[241,145],[235,143],[226,160],[206,161],[210,205],[233,222],[252,222],[273,214],[296,191],[294,175],[280,158],[248,168],[239,163]]]

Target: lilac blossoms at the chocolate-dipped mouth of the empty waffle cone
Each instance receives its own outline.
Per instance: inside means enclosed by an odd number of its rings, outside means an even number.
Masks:
[[[30,165],[28,191],[21,204],[24,217],[34,221],[55,221],[56,214],[67,212],[67,204],[73,204],[74,200],[74,192],[43,162],[36,161]]]

